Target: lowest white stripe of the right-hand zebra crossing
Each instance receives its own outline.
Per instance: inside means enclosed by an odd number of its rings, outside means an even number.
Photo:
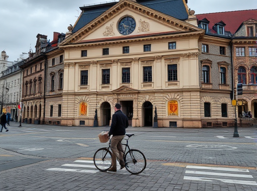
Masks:
[[[184,176],[184,180],[197,180],[197,181],[213,181],[219,180],[224,183],[235,183],[235,184],[246,184],[246,185],[257,185],[255,181],[245,180],[233,180],[233,179],[221,179],[221,178],[206,178],[206,177],[195,177],[195,176]]]

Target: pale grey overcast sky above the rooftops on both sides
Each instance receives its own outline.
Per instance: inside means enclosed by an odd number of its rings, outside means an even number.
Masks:
[[[116,0],[117,1],[117,0]],[[79,7],[104,0],[1,0],[0,52],[6,51],[8,61],[20,54],[35,52],[37,34],[53,40],[53,32],[66,33],[77,20]],[[113,1],[112,1],[113,2]],[[195,14],[257,9],[257,0],[188,0]]]

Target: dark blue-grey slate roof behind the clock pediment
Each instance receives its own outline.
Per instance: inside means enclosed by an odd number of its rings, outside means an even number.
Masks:
[[[137,3],[179,20],[188,19],[187,10],[183,0],[137,0]],[[93,21],[95,18],[99,17],[116,4],[117,2],[89,7],[80,7],[82,10],[82,15],[74,26],[72,33],[77,32],[79,29]]]

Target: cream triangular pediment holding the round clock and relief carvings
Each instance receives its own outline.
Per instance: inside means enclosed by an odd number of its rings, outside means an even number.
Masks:
[[[130,21],[124,21],[126,17]],[[131,31],[127,32],[128,28]],[[203,33],[201,29],[187,22],[165,15],[136,2],[124,0],[68,36],[60,43],[60,46],[195,31]]]

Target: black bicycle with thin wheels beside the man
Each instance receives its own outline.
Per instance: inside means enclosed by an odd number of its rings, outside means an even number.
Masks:
[[[143,170],[145,170],[147,166],[146,157],[140,150],[130,148],[129,139],[132,136],[134,136],[134,134],[126,134],[126,136],[126,144],[121,143],[125,146],[125,154],[123,155],[123,160],[125,161],[125,168],[132,174],[139,174],[143,172]],[[111,139],[109,139],[109,144],[107,147],[98,149],[94,154],[94,165],[98,170],[102,172],[106,172],[112,165],[112,153],[110,151],[110,142]]]

